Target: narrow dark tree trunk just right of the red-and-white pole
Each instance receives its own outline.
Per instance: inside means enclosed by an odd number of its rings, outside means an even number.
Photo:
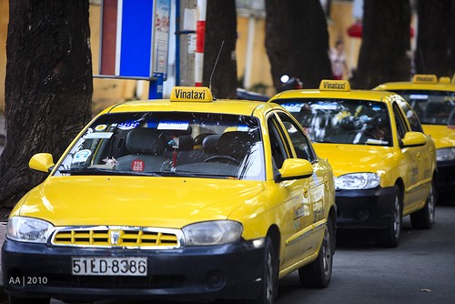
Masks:
[[[211,86],[214,97],[236,98],[236,1],[207,1],[206,20],[203,86]]]

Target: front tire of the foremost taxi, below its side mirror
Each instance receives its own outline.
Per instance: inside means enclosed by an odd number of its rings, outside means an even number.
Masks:
[[[278,295],[278,256],[270,237],[266,238],[262,267],[262,288],[258,298],[252,303],[273,304]]]

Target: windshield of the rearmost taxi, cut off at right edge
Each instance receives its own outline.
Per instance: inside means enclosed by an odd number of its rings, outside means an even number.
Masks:
[[[455,92],[397,90],[414,108],[424,125],[455,125]]]

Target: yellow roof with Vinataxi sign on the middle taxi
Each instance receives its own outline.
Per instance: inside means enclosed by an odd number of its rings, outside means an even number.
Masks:
[[[342,84],[344,88],[323,88],[323,84]],[[349,82],[346,80],[328,80],[321,81],[319,89],[298,89],[288,90],[273,96],[270,101],[275,99],[291,99],[291,98],[343,98],[343,99],[363,99],[378,102],[389,102],[397,94],[388,91],[373,91],[364,89],[350,89]]]

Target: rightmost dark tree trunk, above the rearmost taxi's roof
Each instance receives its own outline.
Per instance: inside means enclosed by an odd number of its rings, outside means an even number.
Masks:
[[[455,1],[417,1],[419,28],[416,72],[452,76],[454,72]]]

